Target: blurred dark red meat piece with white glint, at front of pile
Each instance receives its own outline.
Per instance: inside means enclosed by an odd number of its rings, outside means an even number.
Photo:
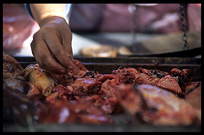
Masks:
[[[86,123],[113,124],[113,120],[88,102],[62,102],[48,104],[46,111],[39,114],[40,123]]]

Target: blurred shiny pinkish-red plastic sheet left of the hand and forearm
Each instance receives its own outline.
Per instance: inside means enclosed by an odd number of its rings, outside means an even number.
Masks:
[[[3,52],[20,50],[34,24],[23,4],[3,4]]]

